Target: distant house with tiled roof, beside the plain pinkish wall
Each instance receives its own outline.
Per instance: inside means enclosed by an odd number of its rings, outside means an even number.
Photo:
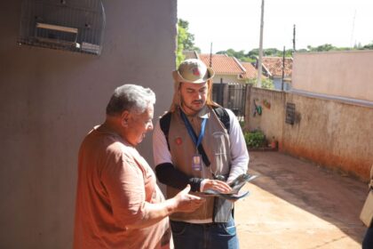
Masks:
[[[258,58],[257,58],[258,65]],[[274,81],[274,89],[289,91],[291,89],[291,74],[293,68],[293,59],[282,57],[263,57],[262,60],[263,75]],[[283,68],[283,70],[282,70]],[[282,87],[283,72],[283,87]]]

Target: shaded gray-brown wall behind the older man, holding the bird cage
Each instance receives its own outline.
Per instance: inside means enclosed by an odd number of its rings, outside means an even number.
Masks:
[[[176,1],[103,1],[101,55],[16,44],[21,1],[0,9],[0,248],[71,248],[76,161],[116,86],[155,90],[169,108]],[[139,147],[153,162],[151,134]]]

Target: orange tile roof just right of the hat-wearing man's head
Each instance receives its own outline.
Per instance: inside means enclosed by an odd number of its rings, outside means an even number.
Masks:
[[[202,53],[200,59],[210,67],[210,53]],[[240,62],[234,57],[229,57],[226,54],[212,54],[212,69],[218,75],[241,75],[246,69],[242,67]]]

